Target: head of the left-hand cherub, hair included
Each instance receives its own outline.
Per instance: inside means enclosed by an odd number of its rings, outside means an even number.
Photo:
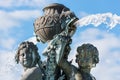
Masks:
[[[32,42],[22,42],[18,47],[15,60],[26,68],[35,66],[40,60],[37,46]]]

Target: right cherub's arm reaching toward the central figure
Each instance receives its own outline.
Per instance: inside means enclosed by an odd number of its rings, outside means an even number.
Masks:
[[[61,60],[59,61],[58,65],[64,71],[67,80],[82,80],[81,72],[79,72],[77,67],[72,65],[71,62],[67,61],[66,56],[68,56],[69,52],[70,45],[67,44],[63,51],[63,57],[61,57]]]

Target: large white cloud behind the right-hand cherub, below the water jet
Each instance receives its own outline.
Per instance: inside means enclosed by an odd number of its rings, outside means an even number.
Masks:
[[[83,43],[91,43],[99,50],[100,62],[92,69],[97,80],[120,80],[120,37],[114,33],[98,29],[86,29],[73,38],[70,59],[75,59],[76,48]],[[74,57],[73,57],[74,56]],[[75,62],[74,62],[75,64]],[[77,65],[77,64],[75,64]]]

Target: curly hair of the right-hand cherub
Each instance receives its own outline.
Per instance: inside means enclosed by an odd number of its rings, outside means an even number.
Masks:
[[[78,63],[78,61],[80,59],[79,56],[82,53],[84,53],[83,55],[86,57],[89,57],[91,55],[93,64],[96,65],[99,62],[99,57],[98,57],[99,52],[94,45],[87,43],[87,44],[83,44],[83,45],[77,47],[76,63]]]

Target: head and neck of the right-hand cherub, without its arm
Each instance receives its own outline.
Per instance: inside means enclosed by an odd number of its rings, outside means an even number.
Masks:
[[[90,71],[99,62],[99,53],[92,44],[83,44],[77,48],[76,62],[83,80],[96,80]]]

